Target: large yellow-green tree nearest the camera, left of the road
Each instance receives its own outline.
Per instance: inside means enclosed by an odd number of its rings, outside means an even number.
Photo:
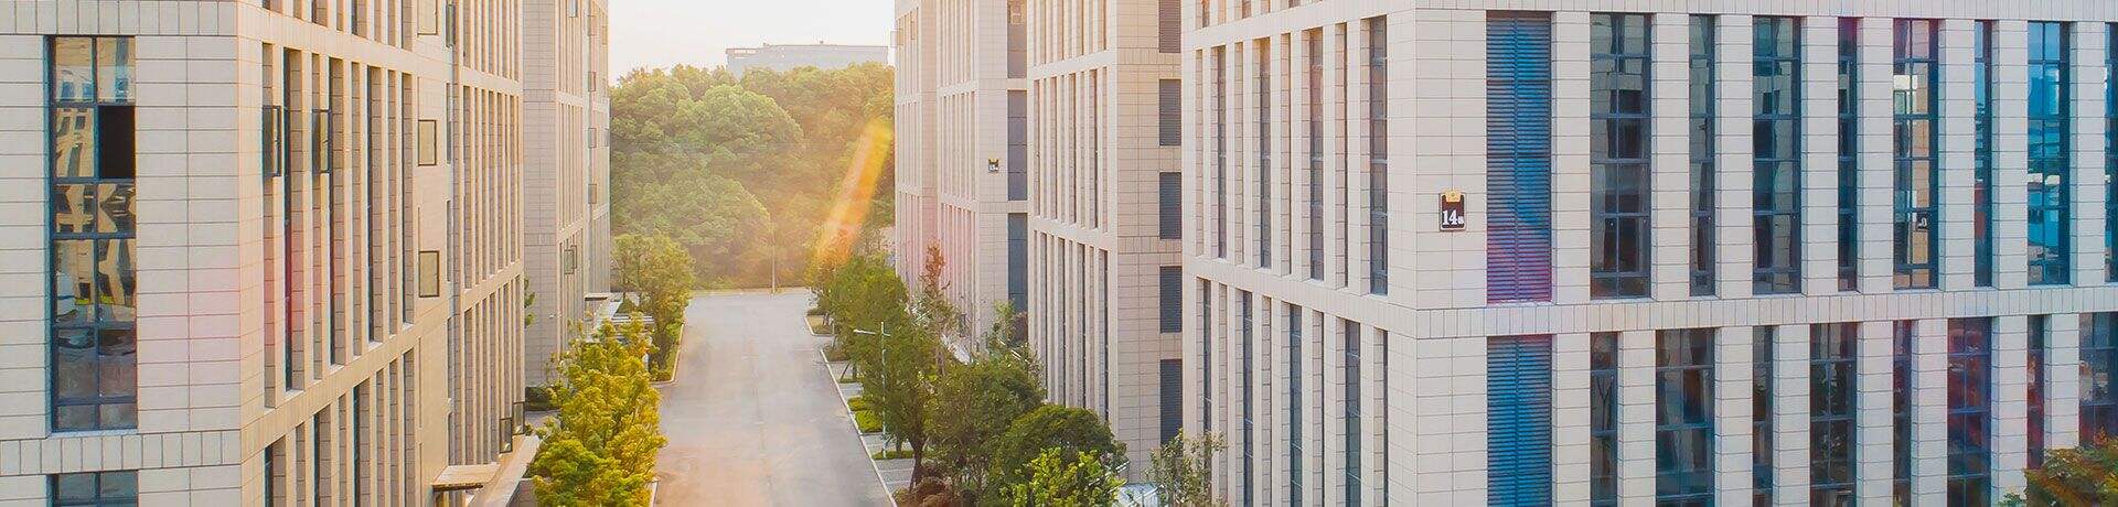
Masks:
[[[648,332],[604,325],[553,359],[559,412],[544,420],[530,473],[540,505],[646,505],[661,435],[661,393],[640,359]]]

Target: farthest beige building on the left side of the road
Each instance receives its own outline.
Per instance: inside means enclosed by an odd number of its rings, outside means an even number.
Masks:
[[[544,387],[587,294],[610,289],[608,4],[523,4],[523,380]]]

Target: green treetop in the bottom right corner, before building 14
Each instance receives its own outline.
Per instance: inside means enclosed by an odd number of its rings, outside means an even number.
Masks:
[[[2097,437],[2080,448],[2050,450],[2044,467],[2023,475],[2029,488],[2008,494],[2004,505],[2118,505],[2118,439]]]

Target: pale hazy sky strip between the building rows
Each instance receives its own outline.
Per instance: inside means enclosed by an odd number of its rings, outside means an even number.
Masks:
[[[720,65],[731,46],[890,44],[892,0],[610,0],[610,72]]]

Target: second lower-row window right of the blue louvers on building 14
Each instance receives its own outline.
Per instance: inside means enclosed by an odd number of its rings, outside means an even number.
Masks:
[[[1713,501],[1713,330],[1654,336],[1654,499]]]

